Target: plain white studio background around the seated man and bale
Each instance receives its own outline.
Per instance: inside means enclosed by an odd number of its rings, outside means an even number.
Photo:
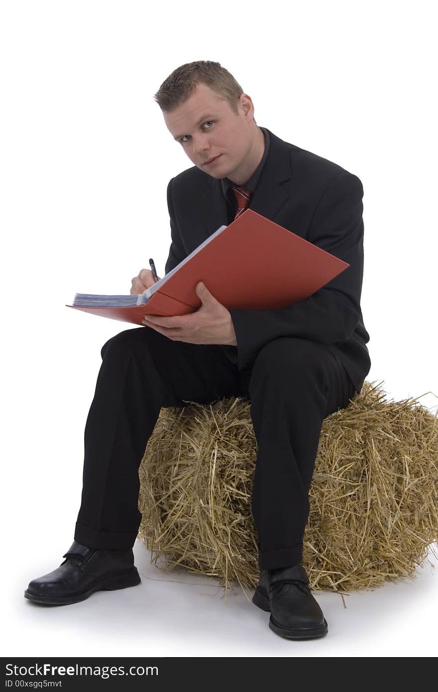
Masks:
[[[139,541],[136,588],[63,608],[23,598],[73,540],[100,348],[129,328],[65,304],[129,293],[149,257],[163,275],[167,183],[192,164],[153,95],[185,62],[220,62],[258,125],[361,179],[367,379],[435,412],[431,12],[424,1],[3,1],[3,655],[435,655],[428,563],[415,581],[350,594],[347,609],[317,594],[329,635],[301,643],[274,635],[238,588],[226,605],[211,580],[158,572]]]

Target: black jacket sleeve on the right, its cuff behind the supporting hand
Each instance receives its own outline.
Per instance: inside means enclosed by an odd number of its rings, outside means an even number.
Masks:
[[[361,318],[363,186],[343,172],[329,184],[309,228],[309,242],[350,265],[309,298],[281,309],[231,309],[239,370],[269,341],[292,336],[324,344],[343,342]]]

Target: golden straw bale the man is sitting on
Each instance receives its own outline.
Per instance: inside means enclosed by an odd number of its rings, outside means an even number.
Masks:
[[[387,401],[365,381],[323,422],[302,560],[313,590],[414,576],[437,540],[438,417],[418,399]],[[248,399],[161,410],[139,471],[139,538],[155,562],[257,585],[256,455]]]

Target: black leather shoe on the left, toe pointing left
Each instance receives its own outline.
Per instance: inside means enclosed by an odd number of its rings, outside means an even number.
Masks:
[[[35,603],[66,605],[84,601],[95,591],[113,591],[136,586],[141,579],[129,550],[89,548],[73,540],[57,570],[34,579],[24,598]]]

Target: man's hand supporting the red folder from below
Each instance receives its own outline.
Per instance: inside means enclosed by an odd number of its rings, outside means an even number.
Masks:
[[[196,292],[202,301],[196,312],[176,317],[145,315],[143,324],[159,331],[172,341],[237,346],[235,329],[226,307],[212,296],[202,282],[197,283]]]

